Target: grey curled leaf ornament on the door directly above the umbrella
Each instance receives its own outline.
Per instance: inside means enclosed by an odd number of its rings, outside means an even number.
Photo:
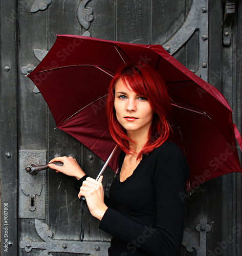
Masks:
[[[89,1],[82,0],[77,10],[78,21],[85,30],[90,28],[90,23],[93,21],[93,9],[90,7],[85,8]]]

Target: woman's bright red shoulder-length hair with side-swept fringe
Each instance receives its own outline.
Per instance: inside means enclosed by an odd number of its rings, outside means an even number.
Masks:
[[[145,64],[129,65],[121,67],[114,75],[107,95],[107,118],[109,130],[113,139],[121,149],[130,154],[130,148],[126,130],[118,122],[114,108],[115,84],[121,78],[124,84],[149,100],[150,106],[155,112],[153,121],[148,133],[148,141],[140,151],[137,159],[143,154],[148,154],[158,146],[168,140],[170,136],[169,118],[171,116],[171,104],[167,92],[166,83],[160,74],[153,68]]]

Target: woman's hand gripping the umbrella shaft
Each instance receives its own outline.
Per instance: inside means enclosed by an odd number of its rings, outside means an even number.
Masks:
[[[87,206],[92,214],[92,216],[101,220],[107,206],[104,203],[104,191],[102,186],[102,178],[101,176],[99,180],[92,179],[87,177],[85,181],[83,181],[82,186],[80,188],[80,193],[78,197],[84,196],[86,199]]]

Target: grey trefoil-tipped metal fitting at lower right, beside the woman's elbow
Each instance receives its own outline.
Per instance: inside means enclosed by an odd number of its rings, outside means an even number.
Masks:
[[[199,220],[199,224],[196,225],[195,229],[197,232],[200,232],[199,244],[190,232],[184,230],[182,245],[186,247],[188,252],[193,252],[193,249],[195,249],[196,256],[206,256],[206,236],[207,232],[211,230],[211,226],[207,224],[205,218],[202,218]]]

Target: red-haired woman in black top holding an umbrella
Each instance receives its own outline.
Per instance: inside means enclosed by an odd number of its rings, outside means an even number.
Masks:
[[[147,65],[120,69],[109,86],[107,116],[114,140],[122,148],[119,174],[104,197],[102,177],[87,177],[75,159],[51,168],[78,179],[99,228],[112,234],[108,255],[178,255],[183,236],[189,167],[180,148],[170,142],[171,105],[164,80]]]

